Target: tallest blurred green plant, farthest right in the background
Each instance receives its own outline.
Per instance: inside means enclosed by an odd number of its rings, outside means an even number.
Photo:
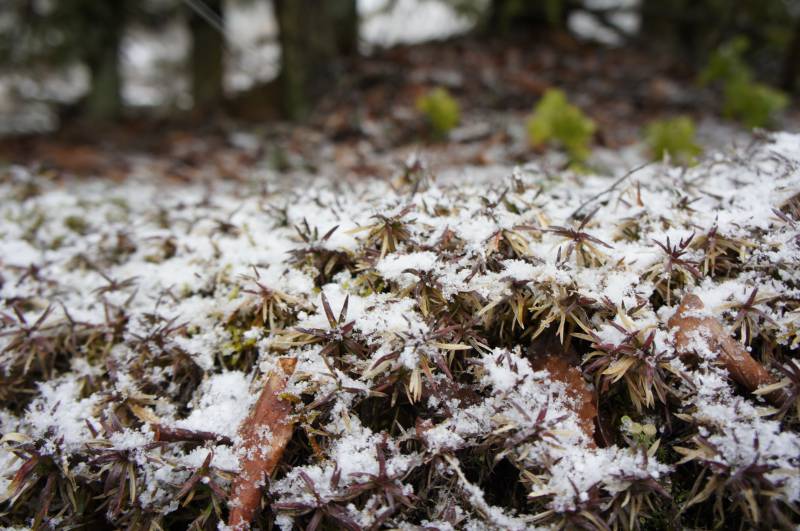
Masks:
[[[775,114],[789,105],[783,92],[753,80],[753,72],[742,55],[747,51],[747,39],[739,37],[714,53],[700,83],[720,82],[723,85],[723,113],[748,127],[765,127]]]

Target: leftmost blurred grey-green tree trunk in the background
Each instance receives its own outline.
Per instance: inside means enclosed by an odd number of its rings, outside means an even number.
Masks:
[[[122,114],[120,44],[125,31],[125,4],[123,0],[83,4],[94,32],[92,46],[86,51],[90,80],[85,109],[90,120],[114,120]]]

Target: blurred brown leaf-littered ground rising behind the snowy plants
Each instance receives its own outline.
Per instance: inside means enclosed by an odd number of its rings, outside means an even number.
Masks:
[[[431,139],[416,109],[432,87],[447,88],[461,106],[460,125],[445,142]],[[0,160],[119,179],[145,157],[179,180],[198,172],[235,179],[254,170],[322,168],[338,178],[387,178],[414,153],[433,169],[507,166],[543,154],[531,149],[524,123],[554,87],[597,123],[601,152],[633,146],[648,122],[678,114],[694,118],[701,143],[712,148],[730,145],[743,131],[719,119],[718,96],[669,55],[563,35],[542,36],[534,46],[461,37],[397,46],[346,65],[302,125],[275,121],[268,99],[243,97],[233,103],[238,119],[132,117],[100,128],[72,122],[49,135],[0,139]],[[777,129],[800,131],[800,111],[786,113]]]

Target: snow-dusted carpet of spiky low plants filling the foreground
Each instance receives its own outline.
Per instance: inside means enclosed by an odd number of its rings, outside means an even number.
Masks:
[[[261,528],[796,525],[798,153],[777,134],[614,186],[509,168],[267,198],[20,169],[0,193],[28,182],[41,219],[0,203],[0,526],[224,522],[287,357]],[[770,387],[702,334],[678,355],[689,292]]]

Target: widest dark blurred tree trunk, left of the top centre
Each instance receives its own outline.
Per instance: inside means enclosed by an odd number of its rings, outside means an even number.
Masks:
[[[274,0],[281,44],[281,107],[287,118],[311,111],[336,71],[358,51],[356,0]]]

